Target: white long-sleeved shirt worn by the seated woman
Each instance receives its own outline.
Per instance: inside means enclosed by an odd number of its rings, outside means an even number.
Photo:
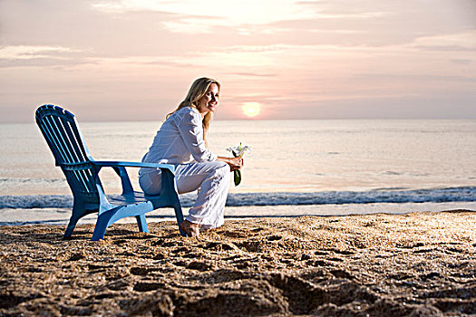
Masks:
[[[195,108],[173,113],[160,127],[142,162],[176,165],[216,160],[217,155],[205,147],[201,122]],[[155,168],[141,168],[139,175],[153,171]]]

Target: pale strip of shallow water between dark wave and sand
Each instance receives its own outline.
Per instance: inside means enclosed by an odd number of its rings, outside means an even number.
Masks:
[[[183,207],[184,215],[188,207]],[[276,205],[225,207],[225,219],[249,219],[260,217],[296,216],[353,216],[389,214],[404,215],[412,212],[444,212],[448,210],[476,211],[476,202],[445,203],[371,203],[371,204],[328,204],[328,205]],[[3,208],[0,209],[0,226],[56,225],[66,226],[71,216],[71,207]],[[174,221],[172,208],[160,208],[146,214],[148,223]],[[95,214],[85,216],[79,224],[95,224]],[[134,218],[124,218],[120,224],[135,223]]]

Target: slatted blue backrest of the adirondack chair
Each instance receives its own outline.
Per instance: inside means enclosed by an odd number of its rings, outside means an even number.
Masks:
[[[89,151],[73,113],[53,105],[36,110],[36,123],[53,152],[56,165],[73,190],[73,195],[97,196],[97,170],[89,159]]]

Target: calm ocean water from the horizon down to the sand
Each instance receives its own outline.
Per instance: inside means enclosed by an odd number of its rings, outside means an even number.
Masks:
[[[80,122],[94,159],[127,161],[141,160],[160,124]],[[228,218],[476,210],[476,120],[211,123],[215,153],[228,156],[240,142],[252,151],[242,183],[230,187]],[[65,224],[73,198],[38,128],[0,124],[0,146],[0,225]],[[129,174],[139,188],[137,170]],[[120,192],[112,170],[102,170],[102,181],[108,195]],[[194,198],[180,196],[184,207]]]

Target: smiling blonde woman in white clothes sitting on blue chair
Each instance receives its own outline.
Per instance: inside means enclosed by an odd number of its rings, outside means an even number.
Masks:
[[[209,123],[219,103],[219,82],[199,78],[179,107],[167,116],[142,162],[175,166],[179,193],[199,189],[195,205],[180,224],[189,236],[199,228],[223,225],[230,171],[243,167],[243,159],[219,157],[206,147]],[[141,168],[139,183],[144,193],[160,193],[160,168]]]

